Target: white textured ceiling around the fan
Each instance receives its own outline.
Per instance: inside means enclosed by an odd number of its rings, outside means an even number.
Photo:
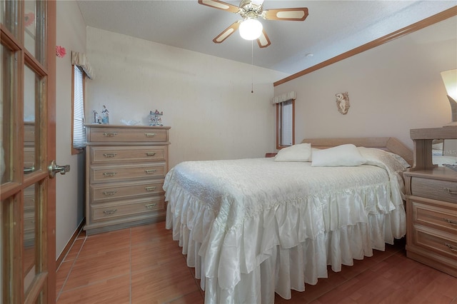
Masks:
[[[265,49],[258,48],[256,41],[251,44],[241,39],[238,33],[214,44],[214,37],[241,16],[203,6],[197,0],[79,0],[78,4],[87,26],[294,74],[449,9],[457,0],[266,0],[263,9],[304,6],[309,15],[305,21],[260,19],[271,40]]]

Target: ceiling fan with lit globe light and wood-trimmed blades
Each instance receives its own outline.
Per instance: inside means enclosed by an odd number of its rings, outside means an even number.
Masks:
[[[297,7],[291,9],[266,9],[263,11],[263,0],[242,0],[239,6],[234,6],[219,0],[199,0],[199,4],[230,11],[231,13],[240,14],[243,21],[235,21],[231,26],[224,29],[216,38],[214,43],[220,44],[238,28],[241,37],[246,40],[257,39],[258,46],[266,48],[271,44],[270,39],[266,36],[262,24],[258,17],[266,20],[286,20],[286,21],[304,21],[308,16],[306,7]]]

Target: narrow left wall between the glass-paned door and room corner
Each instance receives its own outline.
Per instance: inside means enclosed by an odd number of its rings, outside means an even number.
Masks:
[[[57,1],[56,162],[70,172],[56,176],[56,258],[84,218],[84,155],[71,155],[71,51],[86,51],[86,24],[76,1]]]

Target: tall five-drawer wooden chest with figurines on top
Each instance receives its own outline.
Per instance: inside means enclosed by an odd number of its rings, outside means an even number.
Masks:
[[[86,128],[86,233],[164,221],[170,127]]]

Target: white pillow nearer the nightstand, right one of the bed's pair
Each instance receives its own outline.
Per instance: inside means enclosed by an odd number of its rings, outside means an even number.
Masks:
[[[313,151],[313,167],[360,166],[366,163],[357,147],[351,143]]]

